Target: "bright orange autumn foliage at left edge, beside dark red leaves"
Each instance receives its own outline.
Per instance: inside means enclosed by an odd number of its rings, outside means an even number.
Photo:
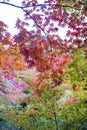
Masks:
[[[25,68],[23,56],[18,47],[8,47],[0,45],[0,65],[2,70],[22,70]]]

